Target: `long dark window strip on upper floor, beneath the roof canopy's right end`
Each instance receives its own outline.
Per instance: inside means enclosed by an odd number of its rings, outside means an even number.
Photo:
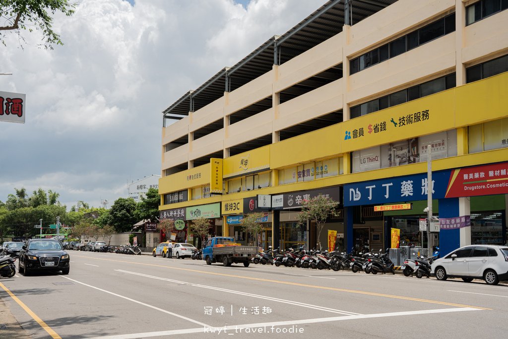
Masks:
[[[452,32],[455,32],[455,13],[351,59],[350,75]]]

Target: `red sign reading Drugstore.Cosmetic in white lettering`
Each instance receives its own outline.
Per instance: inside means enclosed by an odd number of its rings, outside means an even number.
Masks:
[[[508,163],[452,171],[446,198],[508,193]]]

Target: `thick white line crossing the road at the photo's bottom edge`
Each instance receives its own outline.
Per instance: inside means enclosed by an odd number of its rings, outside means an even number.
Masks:
[[[257,323],[257,324],[242,324],[242,325],[230,325],[223,327],[203,327],[203,328],[186,328],[186,329],[177,329],[177,330],[169,330],[169,331],[157,331],[157,332],[145,332],[145,333],[133,333],[133,334],[119,334],[119,335],[109,335],[109,336],[100,336],[93,337],[89,339],[134,339],[134,338],[145,338],[151,336],[163,336],[163,335],[173,335],[173,334],[188,334],[188,333],[228,333],[227,331],[235,331],[238,329],[245,328],[264,328],[266,333],[270,333],[272,327],[277,326],[291,326],[291,325],[302,325],[302,324],[312,324],[312,323],[323,323],[323,322],[331,322],[331,321],[344,321],[344,320],[354,320],[354,319],[367,319],[367,318],[384,318],[384,317],[403,317],[409,315],[420,315],[420,314],[433,314],[433,313],[449,313],[449,312],[463,312],[463,311],[482,311],[480,309],[474,309],[473,307],[459,307],[456,309],[438,309],[438,310],[422,310],[422,311],[406,311],[406,312],[391,312],[391,313],[376,313],[376,314],[364,314],[364,315],[351,315],[351,316],[342,316],[342,317],[329,317],[329,318],[314,318],[314,319],[301,319],[301,320],[289,320],[289,321],[276,321],[271,323]],[[219,329],[221,332],[219,333]],[[214,330],[214,332],[212,332]],[[253,331],[252,331],[253,332]],[[251,332],[251,333],[252,333]],[[263,332],[263,331],[262,331]],[[245,333],[243,331],[242,333]],[[274,332],[275,333],[275,332]],[[228,333],[230,334],[230,333]]]

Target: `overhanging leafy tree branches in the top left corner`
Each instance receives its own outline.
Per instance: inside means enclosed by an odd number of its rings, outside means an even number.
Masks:
[[[69,3],[69,0],[0,0],[2,8],[2,18],[4,26],[0,26],[0,30],[14,30],[21,40],[21,29],[28,32],[40,30],[44,36],[45,42],[39,46],[45,49],[53,49],[53,44],[63,45],[60,35],[54,32],[51,14],[59,11],[67,16],[74,14],[76,4]],[[50,13],[48,13],[48,11]],[[4,46],[6,34],[0,35],[0,41]]]

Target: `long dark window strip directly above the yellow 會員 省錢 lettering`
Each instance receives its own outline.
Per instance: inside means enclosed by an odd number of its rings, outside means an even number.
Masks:
[[[350,117],[356,118],[365,114],[377,112],[388,107],[403,104],[405,102],[420,99],[445,89],[455,87],[455,73],[424,82],[420,85],[399,90],[388,96],[374,99],[366,103],[356,105],[350,108]]]

